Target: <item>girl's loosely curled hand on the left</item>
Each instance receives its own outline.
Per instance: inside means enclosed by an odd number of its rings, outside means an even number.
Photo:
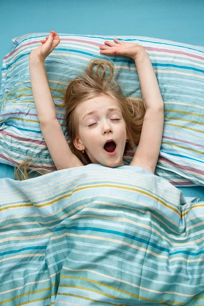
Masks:
[[[49,36],[46,36],[46,39],[40,40],[40,42],[42,44],[31,52],[30,57],[37,57],[44,61],[60,43],[60,38],[55,31],[50,31]]]

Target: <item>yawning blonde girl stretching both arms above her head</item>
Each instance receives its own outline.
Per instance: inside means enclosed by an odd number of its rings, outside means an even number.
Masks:
[[[139,99],[122,95],[120,86],[113,80],[114,70],[110,61],[90,61],[83,76],[70,82],[62,103],[71,140],[69,146],[57,120],[44,67],[45,58],[59,42],[58,34],[51,31],[29,57],[37,115],[57,170],[89,163],[112,168],[124,165],[124,150],[133,149],[139,142],[130,166],[143,167],[155,173],[163,133],[164,103],[144,47],[118,39],[105,41],[99,46],[100,54],[126,56],[135,61],[143,104]],[[110,77],[106,77],[108,67]],[[28,174],[23,177],[28,178]]]

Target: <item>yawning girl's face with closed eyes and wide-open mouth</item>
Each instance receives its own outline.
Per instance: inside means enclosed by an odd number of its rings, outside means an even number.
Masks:
[[[75,147],[86,150],[93,164],[111,168],[124,165],[122,156],[129,138],[119,104],[109,96],[100,95],[81,103],[75,111],[79,122]],[[105,146],[107,140],[113,140],[116,147],[113,143]]]

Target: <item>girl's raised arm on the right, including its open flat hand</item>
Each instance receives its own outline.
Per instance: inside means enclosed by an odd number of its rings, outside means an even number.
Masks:
[[[130,166],[139,166],[155,173],[164,126],[164,102],[155,71],[143,46],[118,39],[114,41],[116,43],[105,41],[107,45],[100,45],[100,53],[123,55],[135,60],[146,110],[140,141]]]

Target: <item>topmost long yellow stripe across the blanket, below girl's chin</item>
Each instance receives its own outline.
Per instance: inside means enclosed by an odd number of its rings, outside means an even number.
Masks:
[[[62,197],[59,197],[57,199],[54,199],[52,201],[49,201],[47,203],[44,203],[44,204],[41,204],[41,205],[38,205],[37,207],[38,208],[41,208],[41,207],[46,207],[46,206],[49,206],[49,205],[53,205],[54,203],[62,200],[62,199],[65,199],[65,198],[68,198],[70,197],[74,192],[78,192],[78,191],[81,191],[81,190],[85,190],[85,189],[91,189],[91,188],[99,188],[99,187],[110,187],[110,188],[120,188],[120,189],[123,189],[123,190],[131,190],[131,191],[134,191],[134,192],[139,192],[139,193],[142,193],[142,194],[145,194],[151,198],[154,198],[156,201],[162,203],[165,207],[169,208],[170,210],[174,211],[177,215],[181,215],[180,211],[174,207],[171,207],[170,205],[168,205],[165,201],[161,200],[161,198],[157,197],[157,196],[154,196],[152,195],[151,193],[149,192],[146,192],[146,191],[142,191],[141,189],[138,189],[138,188],[133,188],[133,187],[122,187],[122,186],[119,186],[119,185],[109,185],[109,184],[104,184],[104,185],[91,185],[91,186],[84,186],[84,187],[79,187],[79,188],[76,188],[74,189],[73,191],[71,191],[69,194],[66,194],[66,195],[63,195]],[[33,204],[20,204],[20,205],[12,205],[12,206],[9,206],[9,207],[5,207],[5,208],[2,208],[0,209],[0,211],[4,211],[4,210],[7,210],[9,208],[18,208],[18,207],[29,207],[29,206],[33,206]]]

